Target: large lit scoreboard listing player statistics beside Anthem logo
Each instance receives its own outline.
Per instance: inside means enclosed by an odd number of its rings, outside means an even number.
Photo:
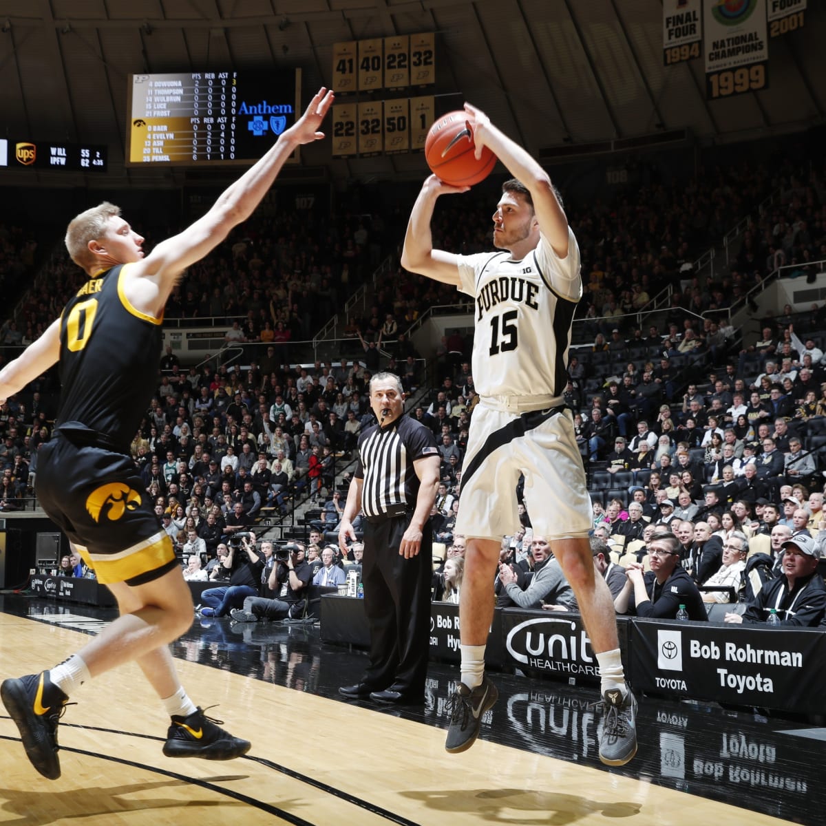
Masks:
[[[300,116],[301,69],[132,74],[128,109],[127,166],[250,164]]]

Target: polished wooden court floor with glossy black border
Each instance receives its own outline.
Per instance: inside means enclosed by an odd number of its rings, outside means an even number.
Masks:
[[[112,610],[0,596],[2,676],[58,662]],[[196,620],[173,646],[198,704],[253,748],[232,762],[170,760],[167,719],[137,667],[78,691],[46,781],[0,707],[0,823],[10,824],[824,824],[823,730],[788,719],[642,698],[640,751],[596,757],[591,687],[496,675],[482,736],[444,752],[456,670],[431,664],[424,707],[335,697],[363,653],[318,629]]]

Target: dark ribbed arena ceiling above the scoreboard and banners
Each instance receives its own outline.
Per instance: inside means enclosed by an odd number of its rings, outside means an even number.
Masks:
[[[3,0],[0,136],[106,144],[110,186],[178,183],[124,166],[129,74],[300,66],[307,94],[330,83],[336,42],[434,31],[434,93],[534,154],[679,129],[746,140],[824,120],[826,3],[808,6],[802,31],[771,40],[769,88],[707,102],[702,59],[662,65],[662,0]],[[337,179],[424,169],[420,155],[331,160],[324,145],[304,161]]]

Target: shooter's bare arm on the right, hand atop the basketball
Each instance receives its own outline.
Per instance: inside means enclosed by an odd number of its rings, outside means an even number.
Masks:
[[[568,249],[567,217],[553,192],[548,173],[519,144],[493,126],[484,112],[470,103],[465,103],[464,109],[473,130],[477,157],[482,154],[482,146],[487,146],[506,165],[510,174],[525,184],[534,201],[539,230],[548,239],[553,251],[560,258],[565,258]]]

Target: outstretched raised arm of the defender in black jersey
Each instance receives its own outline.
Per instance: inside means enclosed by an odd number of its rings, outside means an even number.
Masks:
[[[320,88],[304,114],[286,131],[270,150],[248,169],[235,183],[230,184],[205,216],[186,230],[163,241],[137,264],[140,274],[161,278],[162,287],[168,287],[163,300],[172,290],[175,279],[185,268],[203,258],[220,244],[230,230],[246,221],[278,177],[284,162],[301,144],[320,140],[321,121],[330,110],[334,95]]]

